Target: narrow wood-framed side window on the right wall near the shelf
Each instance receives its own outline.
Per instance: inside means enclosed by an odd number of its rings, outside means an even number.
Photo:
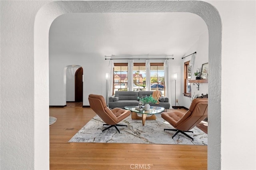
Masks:
[[[191,65],[190,61],[184,63],[184,96],[191,97],[191,86],[188,80],[191,78]]]

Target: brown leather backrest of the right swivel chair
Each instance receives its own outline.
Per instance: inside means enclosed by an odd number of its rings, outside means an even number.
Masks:
[[[190,130],[201,121],[208,117],[208,99],[194,99],[189,107],[189,110],[176,123],[176,128],[179,130]]]

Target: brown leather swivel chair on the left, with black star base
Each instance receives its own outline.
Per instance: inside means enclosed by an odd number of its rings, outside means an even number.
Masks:
[[[117,123],[130,115],[131,112],[129,110],[120,108],[110,110],[106,105],[104,97],[101,95],[90,94],[88,99],[92,110],[106,123],[103,125],[109,125],[109,127],[105,128],[104,130],[115,127],[120,133],[117,126],[127,127],[127,125],[119,125]],[[102,130],[102,132],[104,132],[104,130]]]

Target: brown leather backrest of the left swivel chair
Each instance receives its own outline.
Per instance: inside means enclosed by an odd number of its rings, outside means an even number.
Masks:
[[[92,110],[108,125],[118,123],[117,117],[110,111],[102,95],[90,94],[89,103]]]

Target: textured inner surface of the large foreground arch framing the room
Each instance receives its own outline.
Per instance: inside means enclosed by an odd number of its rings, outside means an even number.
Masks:
[[[34,168],[49,169],[50,25],[62,14],[91,12],[191,12],[206,22],[209,31],[208,168],[220,169],[222,26],[218,11],[202,1],[56,1],[43,6],[34,25]]]

